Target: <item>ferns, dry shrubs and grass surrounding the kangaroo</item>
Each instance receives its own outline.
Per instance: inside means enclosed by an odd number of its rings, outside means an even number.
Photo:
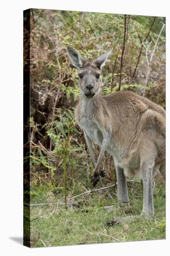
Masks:
[[[92,188],[92,163],[74,121],[78,75],[66,51],[70,45],[93,60],[112,48],[102,72],[103,95],[118,89],[142,95],[147,85],[145,96],[165,108],[165,29],[146,79],[146,51],[150,60],[162,23],[163,17],[31,9],[30,41],[24,29],[24,47],[29,43],[31,54],[31,117],[25,125],[30,132],[30,191],[24,195],[31,208],[25,210],[24,222],[31,229],[31,247],[165,238],[165,186],[160,175],[154,181],[154,220],[105,225],[140,213],[142,183],[128,180],[131,207],[119,208],[113,159],[105,153],[106,177]],[[97,145],[94,152],[97,157]],[[25,233],[25,241],[28,236]]]

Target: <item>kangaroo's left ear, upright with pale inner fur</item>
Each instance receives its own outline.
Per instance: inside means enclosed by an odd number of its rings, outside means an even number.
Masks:
[[[85,60],[81,57],[78,51],[71,46],[67,46],[67,52],[74,67],[77,67],[78,69],[83,67]]]

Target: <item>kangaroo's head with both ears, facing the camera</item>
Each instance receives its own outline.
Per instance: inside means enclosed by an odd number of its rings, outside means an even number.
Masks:
[[[82,58],[78,51],[71,46],[67,46],[67,51],[73,66],[78,68],[81,94],[88,98],[97,95],[102,88],[101,68],[105,65],[111,50],[100,55],[91,63]]]

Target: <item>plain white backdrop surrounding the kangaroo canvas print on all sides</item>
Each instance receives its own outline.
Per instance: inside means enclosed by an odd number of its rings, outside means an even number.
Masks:
[[[1,3],[2,6],[2,3]],[[166,45],[167,45],[167,86],[166,86],[166,111],[167,111],[167,238],[161,241],[129,242],[129,243],[109,243],[98,245],[79,245],[67,247],[51,247],[28,249],[20,243],[15,242],[13,237],[22,237],[22,116],[23,116],[23,43],[22,43],[22,17],[23,10],[27,8],[78,10],[105,13],[123,13],[136,15],[166,16]],[[168,245],[170,243],[170,14],[168,13],[168,1],[143,0],[113,2],[105,1],[76,1],[76,0],[33,0],[29,1],[9,1],[6,0],[1,7],[1,79],[0,79],[0,110],[1,110],[1,210],[0,219],[0,251],[1,255],[168,255]],[[12,132],[13,131],[13,132]]]

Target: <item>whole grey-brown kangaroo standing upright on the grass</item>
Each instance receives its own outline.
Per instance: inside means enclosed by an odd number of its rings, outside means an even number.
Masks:
[[[113,156],[118,182],[118,200],[129,202],[126,177],[143,180],[143,209],[140,216],[126,216],[117,222],[152,218],[154,203],[152,178],[159,170],[165,180],[165,111],[162,107],[131,91],[101,96],[101,69],[111,50],[96,60],[86,61],[74,48],[67,51],[78,68],[80,99],[75,118],[83,129],[94,170],[91,182],[97,184],[105,171],[100,169],[107,151]],[[100,147],[98,161],[92,142]]]

